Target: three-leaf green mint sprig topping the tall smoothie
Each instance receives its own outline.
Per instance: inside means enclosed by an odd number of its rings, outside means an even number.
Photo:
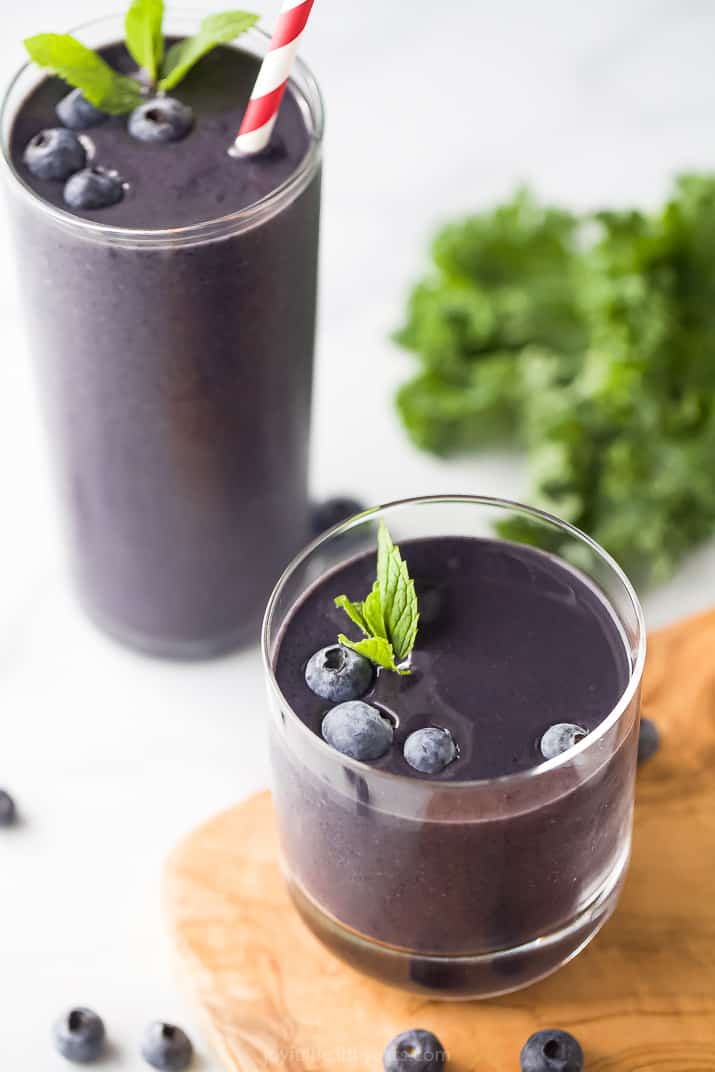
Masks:
[[[126,12],[126,48],[144,72],[144,80],[115,71],[69,33],[38,33],[26,39],[25,47],[39,66],[78,89],[95,107],[121,116],[132,111],[147,93],[174,89],[203,56],[245,33],[258,16],[244,11],[207,15],[198,33],[177,41],[166,55],[163,19],[163,0],[133,0]]]

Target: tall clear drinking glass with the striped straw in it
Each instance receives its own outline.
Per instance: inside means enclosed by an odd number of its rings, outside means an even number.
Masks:
[[[199,19],[169,13],[166,33],[194,33]],[[123,39],[123,24],[76,33],[101,47]],[[267,44],[257,30],[240,40],[256,57]],[[108,632],[159,655],[257,641],[270,589],[309,531],[317,85],[297,62],[308,150],[286,181],[232,214],[153,230],[80,218],[31,189],[11,135],[42,78],[32,65],[14,78],[2,148],[81,601]]]

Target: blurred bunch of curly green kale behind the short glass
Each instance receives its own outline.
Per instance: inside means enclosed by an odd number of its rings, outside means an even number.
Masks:
[[[421,366],[398,394],[414,442],[522,447],[535,505],[640,582],[667,578],[715,532],[715,176],[655,213],[579,218],[520,191],[433,257],[397,337]]]

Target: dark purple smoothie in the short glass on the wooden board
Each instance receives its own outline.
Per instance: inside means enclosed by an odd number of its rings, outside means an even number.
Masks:
[[[393,720],[392,747],[355,764],[325,744],[318,755],[279,723],[285,866],[309,924],[358,966],[428,989],[497,993],[574,952],[587,926],[560,933],[620,880],[637,725],[540,775],[538,789],[503,776],[543,763],[539,742],[553,724],[596,730],[624,694],[629,656],[596,590],[541,551],[468,537],[401,550],[421,610],[413,672],[381,670],[363,698]],[[307,660],[339,631],[358,639],[333,597],[362,598],[374,577],[374,554],[354,559],[309,589],[283,627],[275,679],[315,738],[331,704],[308,688]],[[402,754],[426,726],[448,729],[458,745],[438,775],[419,774]],[[497,780],[474,789],[473,779]],[[500,955],[545,937],[528,956]]]

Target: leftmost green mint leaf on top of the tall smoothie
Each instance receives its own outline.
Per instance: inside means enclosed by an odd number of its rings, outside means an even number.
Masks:
[[[38,33],[25,40],[30,59],[79,89],[102,111],[121,116],[141,102],[141,87],[69,33]]]

